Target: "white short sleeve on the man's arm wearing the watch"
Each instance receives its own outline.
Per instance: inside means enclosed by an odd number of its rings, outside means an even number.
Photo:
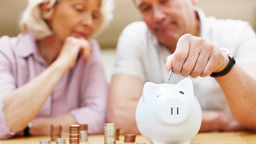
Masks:
[[[240,34],[235,60],[239,66],[256,64],[256,33],[249,23]]]

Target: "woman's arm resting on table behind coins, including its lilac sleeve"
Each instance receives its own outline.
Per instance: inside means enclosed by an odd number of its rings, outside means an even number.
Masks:
[[[108,85],[101,60],[100,48],[93,41],[93,52],[84,74],[86,87],[81,90],[81,107],[57,117],[39,117],[32,121],[32,135],[49,135],[50,124],[61,124],[62,132],[68,133],[70,124],[88,124],[88,133],[103,133],[106,122],[106,98]]]

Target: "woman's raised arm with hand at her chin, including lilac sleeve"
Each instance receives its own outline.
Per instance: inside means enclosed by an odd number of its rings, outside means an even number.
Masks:
[[[13,59],[4,52],[11,50],[6,41],[0,42],[0,139],[23,130],[37,115],[61,76],[75,65],[79,50],[84,50],[83,58],[87,59],[87,51],[91,49],[85,40],[66,38],[57,60],[35,79],[16,88],[10,63]]]

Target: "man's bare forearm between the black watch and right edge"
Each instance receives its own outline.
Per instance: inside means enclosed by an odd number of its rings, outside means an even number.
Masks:
[[[226,95],[233,116],[243,126],[256,129],[256,81],[237,65],[216,78]]]

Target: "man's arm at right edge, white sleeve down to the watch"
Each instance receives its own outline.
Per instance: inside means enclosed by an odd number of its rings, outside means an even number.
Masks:
[[[216,78],[233,116],[249,129],[256,129],[256,33],[249,24],[240,34],[236,65]]]

